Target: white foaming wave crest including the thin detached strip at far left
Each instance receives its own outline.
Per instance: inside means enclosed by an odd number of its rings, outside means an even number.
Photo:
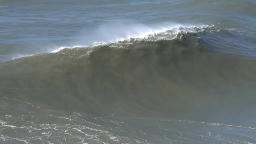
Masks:
[[[185,24],[172,24],[165,26],[132,26],[128,28],[114,29],[104,28],[101,32],[96,32],[95,35],[102,35],[102,39],[95,40],[91,44],[76,44],[73,46],[60,46],[45,53],[56,53],[66,48],[94,48],[95,46],[109,45],[112,47],[121,47],[120,43],[132,44],[134,41],[157,41],[157,40],[173,40],[180,34],[198,33],[204,31],[206,28],[214,27],[214,25],[185,25]],[[112,34],[113,33],[113,34]],[[106,37],[108,37],[106,39]],[[78,42],[79,43],[79,42]],[[36,54],[15,54],[10,56],[10,59],[18,59],[22,57],[34,56]],[[8,60],[7,60],[8,61]]]

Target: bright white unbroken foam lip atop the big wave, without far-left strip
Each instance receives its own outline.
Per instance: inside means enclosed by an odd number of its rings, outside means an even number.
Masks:
[[[143,27],[143,28],[130,28],[126,31],[118,32],[118,35],[110,36],[113,37],[111,40],[108,41],[95,41],[90,46],[84,46],[84,45],[75,45],[75,46],[61,46],[55,50],[52,50],[52,53],[59,52],[60,50],[63,50],[65,48],[86,48],[90,47],[93,48],[95,46],[102,46],[102,45],[108,45],[108,44],[118,44],[119,42],[131,42],[134,40],[146,40],[146,41],[157,41],[157,40],[173,40],[174,38],[177,38],[178,34],[186,34],[188,32],[190,33],[197,33],[202,32],[205,30],[205,28],[211,28],[214,25],[182,25],[177,24],[174,26],[158,26],[156,28],[149,28],[149,27]],[[124,36],[122,36],[124,35]]]

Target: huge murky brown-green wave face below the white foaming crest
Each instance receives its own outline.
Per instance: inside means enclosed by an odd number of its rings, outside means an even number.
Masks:
[[[0,94],[99,116],[255,120],[256,62],[214,50],[203,34],[165,32],[14,59],[0,65]]]

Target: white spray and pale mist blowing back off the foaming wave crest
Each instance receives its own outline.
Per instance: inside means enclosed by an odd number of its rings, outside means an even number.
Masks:
[[[104,24],[94,28],[89,33],[80,32],[78,36],[79,40],[70,42],[66,46],[53,46],[49,45],[48,48],[42,47],[45,49],[44,52],[58,52],[64,48],[76,48],[76,47],[88,47],[88,46],[97,46],[102,44],[108,44],[118,41],[129,40],[131,38],[140,38],[140,39],[149,39],[154,37],[154,40],[160,39],[173,39],[176,38],[177,34],[180,32],[196,32],[198,30],[204,30],[203,28],[212,27],[214,25],[191,25],[191,24],[176,24],[171,22],[165,22],[162,24],[140,24],[140,23],[116,23],[116,24]],[[159,34],[162,37],[159,37]],[[158,36],[156,36],[158,35]],[[90,36],[90,37],[88,37]],[[52,48],[55,49],[52,49]],[[57,48],[56,48],[57,47]],[[31,56],[34,54],[21,55],[17,54],[12,59],[20,58],[23,56]]]

